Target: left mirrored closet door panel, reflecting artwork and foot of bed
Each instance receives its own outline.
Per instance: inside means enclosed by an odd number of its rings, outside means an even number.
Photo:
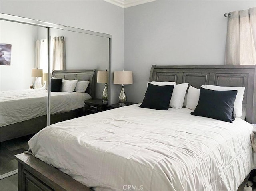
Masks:
[[[14,155],[28,149],[30,126],[46,126],[48,92],[42,87],[48,54],[36,47],[40,39],[47,46],[47,33],[46,27],[0,20],[1,178],[15,173]]]

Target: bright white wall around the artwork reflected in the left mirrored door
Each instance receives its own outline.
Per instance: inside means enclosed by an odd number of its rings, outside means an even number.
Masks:
[[[29,89],[39,27],[2,20],[0,26],[0,43],[12,45],[11,65],[0,65],[0,90]]]

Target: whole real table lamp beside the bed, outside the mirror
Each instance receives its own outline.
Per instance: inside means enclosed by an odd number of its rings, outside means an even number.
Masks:
[[[124,85],[132,84],[132,71],[114,71],[114,84],[120,84],[121,92],[118,97],[119,105],[125,105],[127,97],[124,92]]]

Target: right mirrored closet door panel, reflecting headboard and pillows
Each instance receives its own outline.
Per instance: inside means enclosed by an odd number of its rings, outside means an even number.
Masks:
[[[78,112],[77,116],[83,115],[85,100],[102,99],[104,83],[97,83],[96,78],[98,70],[109,70],[109,38],[56,28],[51,28],[50,36],[51,81],[64,79],[60,92],[51,91],[50,113],[66,112],[57,119],[52,115],[54,123],[63,120],[68,112],[70,118],[75,114],[72,111]],[[94,73],[90,74],[90,70]]]

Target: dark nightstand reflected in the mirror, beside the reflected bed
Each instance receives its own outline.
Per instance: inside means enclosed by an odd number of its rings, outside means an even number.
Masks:
[[[103,103],[101,99],[89,99],[84,101],[85,114],[98,113],[107,110],[108,103]]]

